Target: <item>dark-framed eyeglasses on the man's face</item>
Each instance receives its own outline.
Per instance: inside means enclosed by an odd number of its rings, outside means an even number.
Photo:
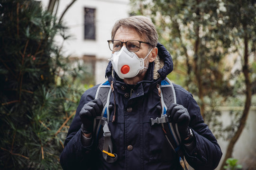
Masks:
[[[142,42],[138,40],[129,40],[127,42],[121,42],[119,40],[108,40],[108,42],[111,51],[120,51],[123,46],[123,43],[125,43],[127,50],[130,52],[139,51],[140,43],[146,43],[151,45],[149,42]]]

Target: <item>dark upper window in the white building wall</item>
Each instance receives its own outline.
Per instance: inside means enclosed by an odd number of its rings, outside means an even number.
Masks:
[[[95,40],[95,9],[84,8],[84,39]]]

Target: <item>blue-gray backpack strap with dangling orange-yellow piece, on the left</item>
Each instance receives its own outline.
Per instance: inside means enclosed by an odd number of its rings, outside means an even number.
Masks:
[[[101,116],[97,116],[94,119],[93,124],[93,132],[95,135],[96,141],[99,140],[101,136],[103,136],[103,146],[102,146],[102,156],[105,161],[111,163],[117,161],[117,154],[112,153],[112,141],[111,141],[111,133],[108,126],[108,122],[110,119],[110,94],[111,94],[111,85],[109,81],[101,83],[99,85],[95,99],[101,99],[103,104],[103,110],[101,112]]]

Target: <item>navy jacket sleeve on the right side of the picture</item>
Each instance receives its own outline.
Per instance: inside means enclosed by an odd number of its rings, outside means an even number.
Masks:
[[[194,136],[194,148],[192,150],[184,149],[185,158],[195,170],[214,170],[222,156],[219,144],[204,123],[200,108],[192,94],[187,92],[183,100],[185,100],[183,105],[191,117],[189,126]]]

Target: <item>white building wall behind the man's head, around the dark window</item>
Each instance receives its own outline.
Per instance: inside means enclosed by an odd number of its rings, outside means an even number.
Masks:
[[[64,9],[72,0],[60,0],[57,16],[60,17]],[[47,7],[49,0],[42,0]],[[65,26],[70,27],[68,34],[72,38],[64,42],[64,56],[82,57],[83,55],[94,55],[96,59],[95,82],[101,83],[105,80],[105,69],[111,57],[107,40],[111,39],[111,29],[120,18],[128,17],[129,0],[77,0],[67,10],[63,21]],[[84,8],[96,9],[96,40],[84,40]],[[56,38],[61,44],[62,38]]]

